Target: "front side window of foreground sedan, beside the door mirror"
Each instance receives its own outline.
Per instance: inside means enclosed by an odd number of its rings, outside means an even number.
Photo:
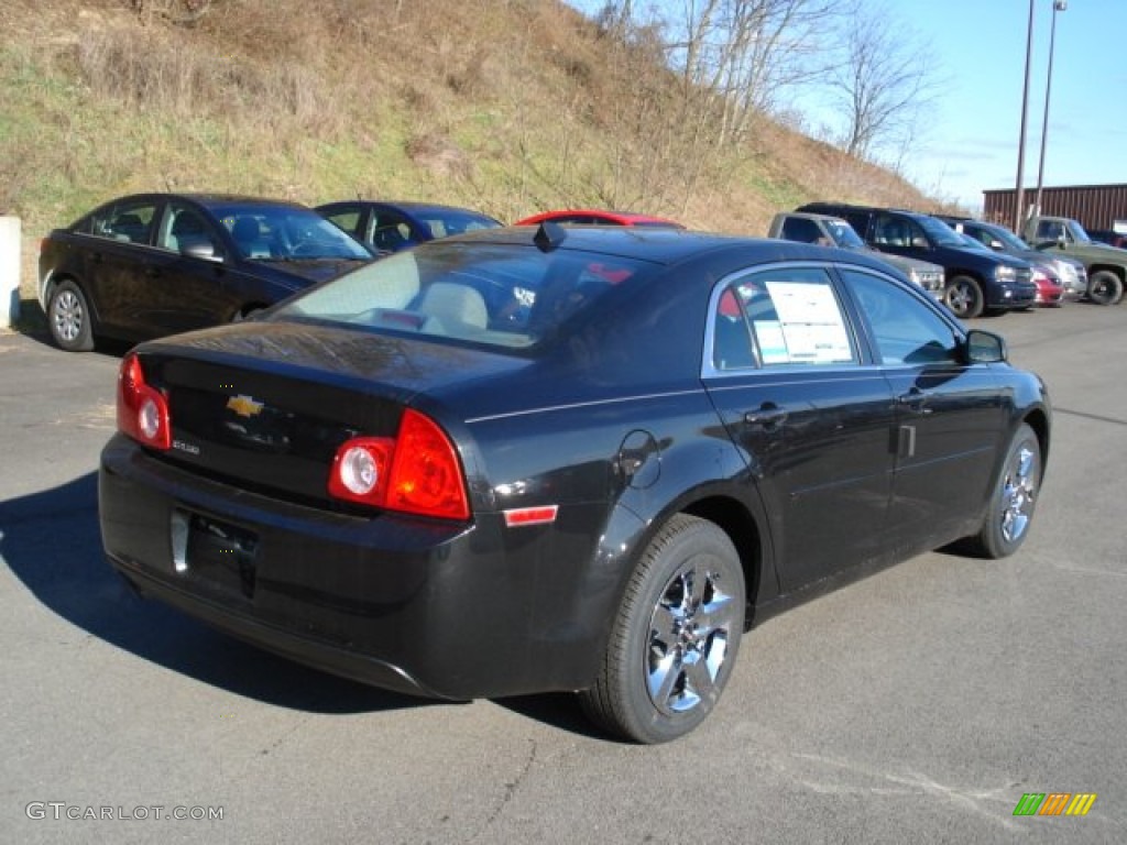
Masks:
[[[958,341],[950,324],[919,299],[880,276],[843,269],[842,277],[869,323],[882,363],[958,361]]]

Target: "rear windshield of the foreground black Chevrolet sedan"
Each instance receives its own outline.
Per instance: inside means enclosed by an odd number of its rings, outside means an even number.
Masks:
[[[311,288],[275,314],[523,348],[629,295],[655,269],[593,252],[431,241]]]

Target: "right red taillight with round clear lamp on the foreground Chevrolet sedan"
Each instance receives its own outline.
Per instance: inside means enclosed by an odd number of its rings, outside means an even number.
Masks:
[[[412,410],[403,412],[394,439],[354,437],[341,444],[329,471],[329,495],[446,519],[470,515],[453,444],[431,418]]]

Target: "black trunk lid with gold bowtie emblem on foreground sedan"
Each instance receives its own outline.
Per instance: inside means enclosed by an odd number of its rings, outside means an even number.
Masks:
[[[419,394],[520,365],[505,356],[300,323],[223,327],[140,347],[147,383],[168,399],[165,456],[238,487],[303,504],[328,495],[337,448],[394,437]]]

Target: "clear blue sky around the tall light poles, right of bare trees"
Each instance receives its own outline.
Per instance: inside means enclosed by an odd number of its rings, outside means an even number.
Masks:
[[[904,159],[905,174],[930,196],[978,210],[983,190],[1017,183],[1029,0],[882,5],[931,52],[934,75],[943,81],[930,125]],[[1051,18],[1053,0],[1035,0],[1028,187],[1037,184]],[[805,104],[798,98],[793,105],[801,110]],[[1068,0],[1057,12],[1044,184],[1119,183],[1127,183],[1127,0]]]

